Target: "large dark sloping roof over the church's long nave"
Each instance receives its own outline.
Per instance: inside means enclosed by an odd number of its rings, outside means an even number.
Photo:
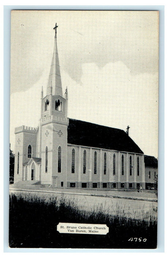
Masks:
[[[125,131],[69,118],[68,143],[144,154]]]

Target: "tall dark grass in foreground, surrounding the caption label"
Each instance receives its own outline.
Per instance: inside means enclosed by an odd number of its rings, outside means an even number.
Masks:
[[[156,248],[157,211],[134,211],[117,203],[111,207],[98,204],[91,211],[81,210],[77,200],[62,194],[38,196],[16,193],[9,196],[9,246],[11,248]],[[106,224],[107,235],[64,234],[59,222]],[[146,242],[128,241],[146,238]]]

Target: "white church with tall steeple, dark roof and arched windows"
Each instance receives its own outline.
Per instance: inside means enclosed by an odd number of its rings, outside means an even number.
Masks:
[[[14,183],[52,187],[145,189],[144,153],[127,131],[67,117],[68,89],[62,93],[57,50],[46,95],[41,91],[37,128],[15,128]]]

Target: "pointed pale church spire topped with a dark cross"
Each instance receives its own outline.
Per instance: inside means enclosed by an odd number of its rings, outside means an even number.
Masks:
[[[54,41],[54,53],[51,62],[50,75],[47,85],[47,95],[50,94],[50,87],[52,84],[53,95],[62,96],[62,85],[61,85],[61,75],[60,75],[60,65],[58,59],[58,49],[57,49],[57,23],[54,27],[55,30],[55,41]]]

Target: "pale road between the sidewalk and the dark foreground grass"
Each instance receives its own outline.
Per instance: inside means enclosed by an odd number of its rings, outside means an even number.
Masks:
[[[10,192],[20,193],[20,191],[10,190]],[[50,198],[51,196],[60,199],[61,193],[46,193],[46,192],[34,192],[34,191],[21,191],[21,193],[34,193],[37,196]],[[63,195],[67,200],[75,201],[80,210],[86,211],[101,211],[109,214],[121,215],[126,217],[132,217],[136,219],[148,218],[149,214],[156,216],[157,203],[147,202],[141,200],[119,199],[112,197],[99,197],[99,196],[87,196],[87,195]],[[154,210],[153,210],[154,209]]]

